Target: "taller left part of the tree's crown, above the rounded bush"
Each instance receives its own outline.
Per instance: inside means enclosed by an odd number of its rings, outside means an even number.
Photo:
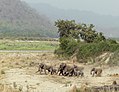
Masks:
[[[58,33],[60,38],[72,36],[74,38],[78,37],[78,30],[80,29],[79,25],[75,23],[74,20],[57,20],[55,26],[58,27]]]

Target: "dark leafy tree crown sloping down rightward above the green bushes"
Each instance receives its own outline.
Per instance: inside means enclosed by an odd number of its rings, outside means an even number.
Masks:
[[[95,31],[93,24],[77,24],[74,20],[57,20],[55,26],[58,27],[60,38],[73,37],[74,39],[82,39],[87,43],[105,40],[102,33]]]

